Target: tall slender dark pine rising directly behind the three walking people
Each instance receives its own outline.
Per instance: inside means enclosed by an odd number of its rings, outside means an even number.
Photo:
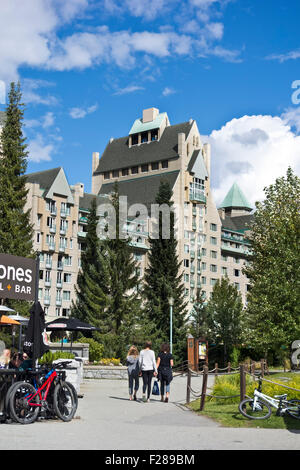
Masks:
[[[155,202],[167,204],[172,209],[172,189],[168,181],[161,180]],[[145,272],[144,296],[146,315],[154,325],[159,337],[157,342],[169,341],[170,338],[170,296],[173,305],[173,355],[176,362],[182,362],[186,356],[186,303],[184,285],[180,273],[180,262],[175,238],[175,215],[170,212],[170,236],[164,238],[163,214],[160,211],[157,220],[157,237],[149,238],[149,267]],[[156,344],[157,344],[156,342]],[[158,346],[158,344],[157,344]],[[156,346],[156,347],[157,347]]]

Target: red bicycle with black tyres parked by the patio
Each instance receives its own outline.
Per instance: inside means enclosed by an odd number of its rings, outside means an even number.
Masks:
[[[56,364],[62,369],[68,362]],[[75,388],[65,381],[66,373],[52,368],[36,382],[38,375],[44,371],[31,371],[33,383],[17,382],[11,387],[8,408],[11,418],[20,424],[33,423],[38,415],[56,415],[63,421],[71,421],[76,413],[78,397]],[[29,372],[30,375],[30,372]]]

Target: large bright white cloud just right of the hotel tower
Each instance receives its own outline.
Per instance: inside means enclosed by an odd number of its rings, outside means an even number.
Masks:
[[[208,136],[217,204],[237,182],[254,208],[255,201],[264,199],[264,187],[284,176],[288,166],[300,173],[300,136],[289,119],[288,111],[278,117],[243,116]]]

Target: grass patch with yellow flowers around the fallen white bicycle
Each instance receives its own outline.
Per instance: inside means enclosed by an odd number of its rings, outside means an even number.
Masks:
[[[291,378],[294,379],[295,376],[293,377],[291,376],[292,376],[291,373],[287,373],[287,374],[281,373],[281,374],[266,376],[266,378],[268,380],[272,380],[277,383],[279,382],[284,383],[284,380],[280,380],[280,378],[287,377],[289,379]],[[299,379],[300,379],[300,374],[297,374],[297,377],[296,377],[297,382]],[[221,381],[223,380],[226,381],[226,379],[222,378]],[[231,386],[233,387],[233,384],[231,384]],[[236,384],[234,384],[234,386],[236,386]],[[238,393],[237,389],[232,389],[232,393],[230,394],[233,395],[236,392]],[[263,392],[264,392],[264,388],[263,388]],[[212,393],[212,391],[210,391],[209,393]],[[282,388],[280,393],[285,393],[285,390]],[[220,393],[220,395],[222,395],[222,393]],[[252,394],[249,393],[249,395],[251,396]],[[270,393],[270,395],[272,394]],[[291,397],[288,397],[288,398],[291,398]],[[226,403],[226,401],[222,399],[207,398],[205,401],[204,410],[201,412],[199,411],[200,399],[197,399],[191,402],[187,406],[191,410],[195,411],[197,414],[202,415],[202,416],[207,416],[208,418],[211,418],[217,421],[224,427],[300,430],[300,420],[291,418],[289,416],[276,416],[275,408],[272,408],[273,410],[272,415],[268,419],[251,420],[251,419],[244,418],[244,416],[242,416],[238,410],[239,400],[235,399],[232,401],[234,401],[234,403],[228,403],[228,401]]]

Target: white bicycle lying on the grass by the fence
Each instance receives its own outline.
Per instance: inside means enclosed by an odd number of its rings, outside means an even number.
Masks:
[[[300,400],[287,400],[287,394],[270,397],[262,393],[262,379],[259,376],[258,388],[254,390],[253,398],[246,398],[239,404],[239,412],[249,419],[267,419],[271,416],[272,408],[277,410],[276,415],[287,414],[300,419]]]

